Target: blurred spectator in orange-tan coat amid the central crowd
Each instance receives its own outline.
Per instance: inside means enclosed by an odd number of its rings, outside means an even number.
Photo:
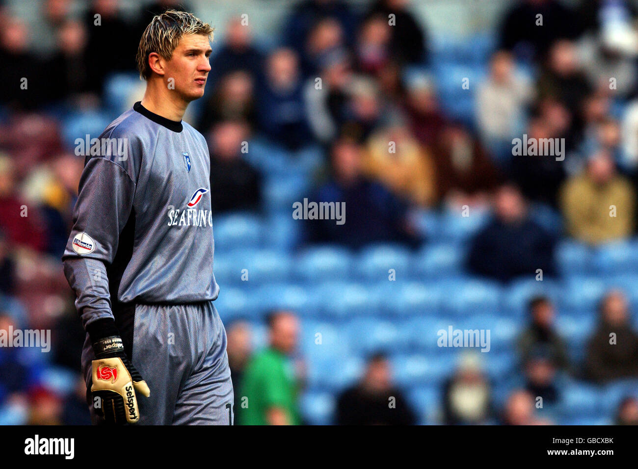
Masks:
[[[382,182],[397,197],[420,207],[434,204],[433,160],[401,119],[371,135],[362,164],[366,175]]]

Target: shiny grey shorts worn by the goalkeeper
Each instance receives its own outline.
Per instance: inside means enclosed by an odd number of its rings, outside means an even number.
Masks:
[[[112,305],[124,350],[151,389],[138,395],[142,425],[232,425],[233,385],[226,331],[212,301],[191,304]],[[91,396],[93,347],[82,351],[87,403],[101,424]]]

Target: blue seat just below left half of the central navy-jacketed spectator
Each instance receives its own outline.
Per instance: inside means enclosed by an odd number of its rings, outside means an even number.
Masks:
[[[302,251],[295,260],[299,278],[313,284],[345,279],[350,272],[352,255],[345,248],[315,246]]]

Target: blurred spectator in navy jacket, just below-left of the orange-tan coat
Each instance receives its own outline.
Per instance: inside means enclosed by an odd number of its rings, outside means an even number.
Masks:
[[[362,174],[362,148],[343,137],[332,147],[332,175],[316,191],[313,201],[344,203],[345,223],[308,220],[308,241],[336,243],[358,249],[374,242],[404,242],[415,246],[419,238],[410,228],[406,204],[381,184]]]

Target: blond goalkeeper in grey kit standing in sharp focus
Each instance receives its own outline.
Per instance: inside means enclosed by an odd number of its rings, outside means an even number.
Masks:
[[[64,274],[87,332],[94,424],[233,423],[226,332],[212,303],[210,157],[182,116],[201,98],[212,28],[154,17],[138,48],[142,101],[85,157]]]

